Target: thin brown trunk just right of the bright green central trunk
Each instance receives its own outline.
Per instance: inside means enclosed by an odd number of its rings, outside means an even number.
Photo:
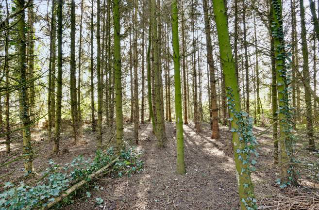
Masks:
[[[184,29],[184,0],[182,0],[182,43],[183,43],[183,86],[184,86],[184,124],[188,124],[188,116],[187,116],[187,89],[186,89],[186,73],[185,73],[185,58],[186,58],[186,41],[185,41],[185,29]]]

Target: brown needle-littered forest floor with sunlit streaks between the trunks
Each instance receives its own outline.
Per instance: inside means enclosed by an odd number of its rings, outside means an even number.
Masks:
[[[187,173],[181,176],[175,172],[175,123],[166,123],[168,141],[165,148],[156,147],[157,141],[152,134],[150,123],[140,126],[139,145],[136,149],[141,153],[140,158],[144,161],[143,170],[134,173],[130,178],[127,176],[106,177],[96,180],[93,185],[99,186],[100,190],[90,188],[89,191],[92,194],[90,198],[79,196],[75,198],[74,203],[65,206],[64,210],[236,210],[239,208],[235,162],[228,127],[220,126],[220,139],[210,139],[211,131],[208,124],[203,124],[199,133],[195,132],[192,124],[184,125]],[[254,133],[258,134],[265,130],[265,128],[256,127]],[[67,163],[78,155],[93,158],[98,148],[96,138],[92,134],[84,132],[79,138],[80,143],[71,145],[72,138],[65,133],[62,135],[61,153],[53,155],[50,152],[52,144],[48,145],[41,138],[42,135],[43,133],[38,132],[33,136],[37,139],[36,148],[39,149],[34,161],[36,171],[46,168],[50,159],[57,163]],[[132,136],[132,127],[128,126],[125,129],[125,139],[131,141]],[[259,157],[256,164],[257,171],[252,173],[252,180],[260,209],[284,210],[303,205],[303,202],[307,202],[307,199],[311,199],[314,194],[313,205],[318,205],[314,210],[319,210],[319,200],[316,200],[319,198],[319,185],[310,176],[308,177],[309,170],[305,170],[305,173],[301,175],[301,188],[287,187],[280,190],[276,184],[279,172],[276,167],[278,166],[272,164],[272,138],[265,132],[259,135],[257,140]],[[133,142],[132,145],[134,145]],[[8,158],[3,150],[0,153],[1,162]],[[308,162],[318,160],[316,152],[303,149],[302,154],[306,154]],[[21,177],[22,167],[22,162],[15,162],[5,169],[0,169],[0,174],[18,169],[10,177],[5,178],[5,181],[14,181]],[[3,178],[2,181],[4,181]],[[102,206],[96,204],[97,197],[104,200]],[[291,208],[293,209],[298,208]]]

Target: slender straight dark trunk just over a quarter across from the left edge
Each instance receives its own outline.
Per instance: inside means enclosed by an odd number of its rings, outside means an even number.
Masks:
[[[92,119],[92,131],[96,130],[96,124],[95,124],[95,108],[94,108],[94,83],[93,83],[93,32],[94,32],[94,23],[93,23],[93,7],[94,2],[92,0],[91,4],[91,63],[90,63],[90,72],[91,72],[91,119]]]

